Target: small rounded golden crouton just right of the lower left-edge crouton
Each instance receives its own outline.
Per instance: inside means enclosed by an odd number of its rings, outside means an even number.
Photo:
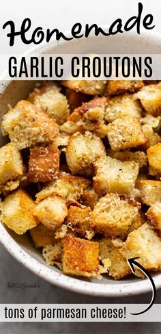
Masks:
[[[59,227],[68,209],[65,205],[65,198],[59,195],[52,195],[35,205],[34,216],[44,224],[47,229],[54,230]]]

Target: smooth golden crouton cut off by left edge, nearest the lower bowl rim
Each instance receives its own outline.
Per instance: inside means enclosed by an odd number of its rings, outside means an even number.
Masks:
[[[17,234],[33,229],[38,220],[33,216],[35,203],[25,190],[18,189],[1,203],[1,222]]]

